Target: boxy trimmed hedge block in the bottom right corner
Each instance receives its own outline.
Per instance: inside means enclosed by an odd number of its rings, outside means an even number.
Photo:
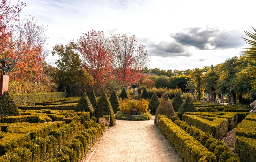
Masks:
[[[235,137],[234,151],[242,162],[255,162],[256,139],[241,136]]]

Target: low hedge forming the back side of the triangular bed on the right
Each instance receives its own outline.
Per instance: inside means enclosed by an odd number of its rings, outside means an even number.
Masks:
[[[226,118],[229,120],[229,131],[232,130],[235,125],[237,124],[238,121],[238,113],[223,113],[223,112],[219,112],[219,113],[208,113],[208,112],[186,112],[185,114],[189,114],[189,115],[196,115],[196,116],[210,116],[210,117],[219,117],[219,118]]]

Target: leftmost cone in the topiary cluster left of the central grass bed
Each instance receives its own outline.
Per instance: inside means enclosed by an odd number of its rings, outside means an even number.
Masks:
[[[77,107],[75,108],[75,111],[86,111],[90,112],[90,117],[93,114],[93,107],[91,105],[91,102],[89,98],[87,97],[86,93],[82,95],[81,99],[79,100]]]

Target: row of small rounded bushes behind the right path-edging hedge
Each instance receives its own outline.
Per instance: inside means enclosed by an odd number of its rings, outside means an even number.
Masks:
[[[217,161],[239,161],[238,156],[236,154],[232,154],[229,147],[221,140],[214,138],[209,133],[204,133],[202,130],[194,126],[189,126],[185,121],[180,121],[177,118],[172,118],[172,120],[173,123],[187,131],[191,137],[195,138],[198,142],[205,146],[208,151],[214,153]]]

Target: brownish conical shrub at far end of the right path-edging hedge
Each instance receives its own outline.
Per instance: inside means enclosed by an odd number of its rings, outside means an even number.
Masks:
[[[159,114],[166,115],[170,119],[172,118],[172,116],[176,116],[174,109],[172,107],[172,103],[169,100],[169,97],[166,92],[165,92],[164,96],[162,97],[162,100],[161,100],[159,106],[157,107],[156,114],[157,115],[159,115]]]

